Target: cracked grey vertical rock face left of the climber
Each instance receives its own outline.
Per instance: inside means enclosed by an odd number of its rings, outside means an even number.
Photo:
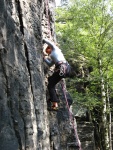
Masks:
[[[41,0],[0,0],[0,150],[49,150]]]

